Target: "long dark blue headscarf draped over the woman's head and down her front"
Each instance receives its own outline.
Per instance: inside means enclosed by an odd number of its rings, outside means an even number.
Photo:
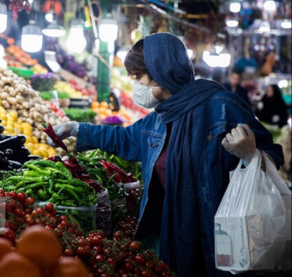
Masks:
[[[166,195],[159,256],[178,276],[193,276],[198,260],[199,178],[207,142],[209,99],[225,90],[212,80],[194,80],[194,68],[182,41],[169,33],[144,38],[144,60],[159,85],[172,93],[155,108],[172,124],[166,159]],[[212,226],[210,226],[212,228]]]

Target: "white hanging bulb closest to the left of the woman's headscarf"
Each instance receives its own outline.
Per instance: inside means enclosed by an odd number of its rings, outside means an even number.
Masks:
[[[113,19],[113,15],[108,12],[99,25],[100,40],[105,42],[115,41],[117,39],[117,21]]]

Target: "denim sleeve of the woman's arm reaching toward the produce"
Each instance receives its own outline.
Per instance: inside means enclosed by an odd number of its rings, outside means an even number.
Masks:
[[[80,123],[76,151],[99,148],[129,161],[141,161],[140,129],[143,120],[133,125],[110,126]]]

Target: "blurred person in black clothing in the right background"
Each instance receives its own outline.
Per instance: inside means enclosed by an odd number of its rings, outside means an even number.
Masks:
[[[282,98],[281,89],[278,85],[269,85],[265,95],[256,104],[254,110],[256,117],[261,122],[273,124],[282,128],[287,124],[287,105]]]

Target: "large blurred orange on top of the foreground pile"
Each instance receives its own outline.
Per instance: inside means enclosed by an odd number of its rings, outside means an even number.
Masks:
[[[57,236],[43,225],[25,228],[16,241],[16,249],[40,267],[53,265],[61,255]]]

